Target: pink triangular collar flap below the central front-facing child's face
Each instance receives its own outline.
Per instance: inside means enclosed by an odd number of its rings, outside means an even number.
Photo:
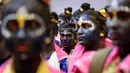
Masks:
[[[68,54],[56,44],[55,44],[55,51],[56,51],[56,54],[57,54],[57,57],[58,57],[59,61],[66,58],[66,57],[68,57]]]

